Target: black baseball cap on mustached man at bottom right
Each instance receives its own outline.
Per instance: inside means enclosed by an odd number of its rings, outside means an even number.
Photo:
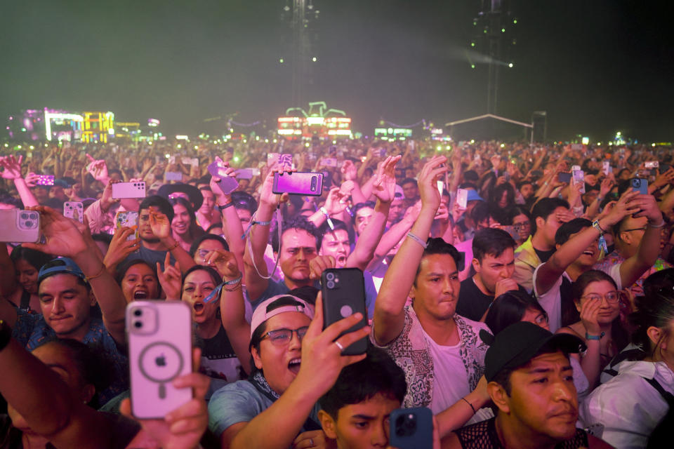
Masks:
[[[480,339],[489,344],[484,356],[484,377],[487,382],[502,370],[524,366],[541,349],[560,349],[566,353],[583,351],[585,343],[571,334],[553,334],[549,330],[528,321],[511,324],[496,336],[486,330],[480,330]]]

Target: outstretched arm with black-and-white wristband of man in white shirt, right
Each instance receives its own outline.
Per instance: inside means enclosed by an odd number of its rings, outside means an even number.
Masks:
[[[625,192],[615,206],[613,206],[611,212],[598,220],[600,227],[608,231],[613,225],[622,220],[625,215],[636,213],[639,209],[630,203],[630,200],[634,199],[635,196],[637,196],[637,192],[630,190]],[[548,259],[548,262],[538,268],[535,286],[536,294],[543,295],[543,293],[550,290],[555,285],[555,282],[557,282],[557,279],[560,279],[560,276],[562,276],[567,267],[574,260],[578,259],[583,254],[583,251],[597,240],[599,235],[599,229],[588,227],[560,246],[555,251],[555,254]]]

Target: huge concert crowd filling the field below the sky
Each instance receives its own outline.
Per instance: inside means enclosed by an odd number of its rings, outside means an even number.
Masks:
[[[41,238],[0,229],[0,448],[385,448],[397,408],[430,408],[434,449],[666,447],[673,167],[646,145],[4,149],[0,209]],[[285,172],[323,191],[275,193]],[[333,268],[362,272],[366,317],[324,326]],[[147,420],[125,311],[156,299],[192,311],[192,399]]]

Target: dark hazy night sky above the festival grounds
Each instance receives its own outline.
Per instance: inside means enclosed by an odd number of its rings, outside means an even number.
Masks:
[[[291,2],[290,2],[291,3]],[[194,133],[212,116],[274,118],[291,105],[285,0],[4,1],[0,116],[111,110]],[[465,58],[480,1],[315,0],[314,83],[371,132],[383,118],[436,124],[484,114],[487,66]],[[674,8],[665,1],[517,0],[498,114],[548,112],[548,137],[616,130],[674,140]],[[510,29],[508,30],[510,32]],[[286,63],[279,64],[285,57]],[[4,119],[3,119],[4,120]]]

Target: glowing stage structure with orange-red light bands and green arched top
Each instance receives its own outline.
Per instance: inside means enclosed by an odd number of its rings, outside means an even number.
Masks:
[[[286,109],[286,115],[279,117],[278,134],[286,140],[350,139],[351,119],[340,109],[327,109],[325,102],[312,102],[309,112],[301,107]]]

